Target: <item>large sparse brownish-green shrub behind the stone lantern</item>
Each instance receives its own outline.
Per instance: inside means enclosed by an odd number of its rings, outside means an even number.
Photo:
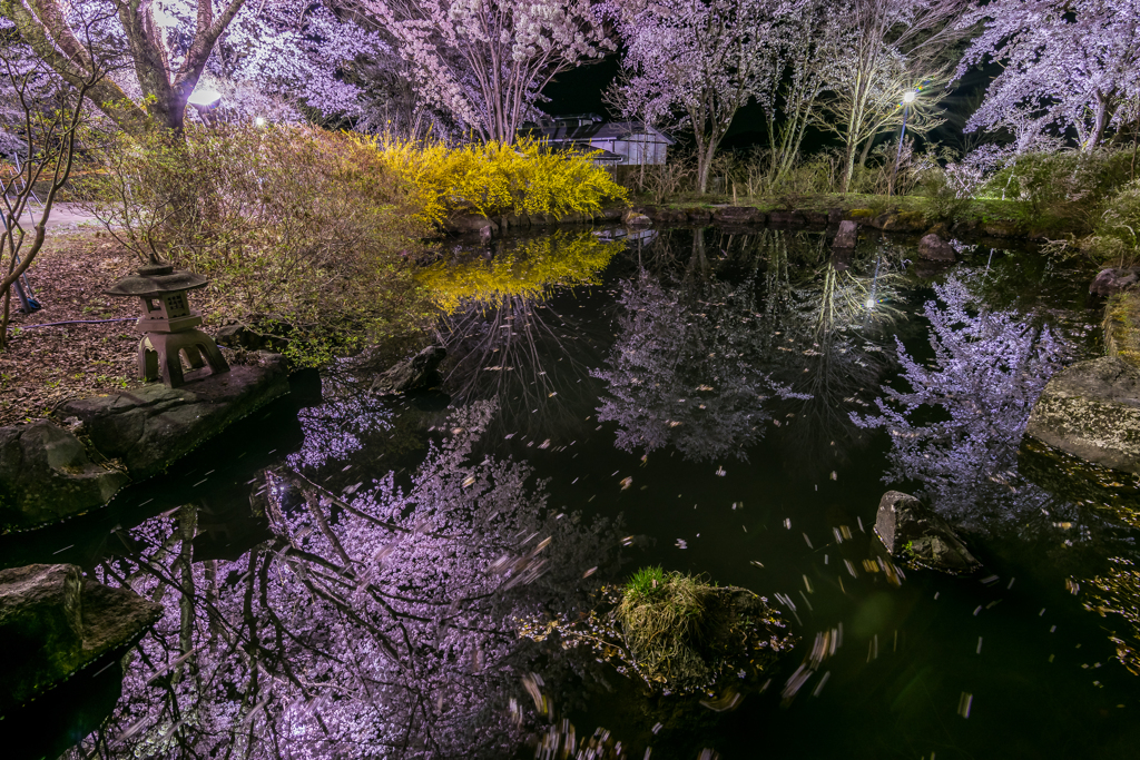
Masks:
[[[95,136],[97,138],[98,136]],[[211,279],[207,319],[287,325],[318,366],[408,335],[430,313],[404,263],[427,226],[370,140],[302,126],[89,138],[76,199],[141,260]]]

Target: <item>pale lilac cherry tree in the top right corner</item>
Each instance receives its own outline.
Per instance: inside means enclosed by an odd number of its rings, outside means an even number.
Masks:
[[[1001,73],[967,130],[1009,130],[1016,149],[1043,133],[1075,132],[1092,150],[1129,121],[1140,98],[1140,3],[1135,0],[978,2],[961,27],[982,25],[958,67],[990,62]]]

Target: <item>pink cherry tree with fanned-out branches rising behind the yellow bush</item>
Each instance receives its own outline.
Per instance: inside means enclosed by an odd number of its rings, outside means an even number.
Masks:
[[[421,96],[512,142],[557,74],[616,49],[592,0],[361,0],[412,63]]]

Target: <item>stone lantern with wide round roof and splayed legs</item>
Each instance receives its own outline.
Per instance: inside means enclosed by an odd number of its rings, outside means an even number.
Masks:
[[[170,264],[148,264],[106,291],[107,295],[135,296],[142,302],[142,316],[136,324],[136,329],[142,333],[139,341],[142,379],[158,379],[161,375],[169,387],[178,387],[185,382],[181,354],[192,369],[209,362],[214,375],[229,371],[213,338],[195,329],[202,324],[202,314],[190,311],[186,297],[188,291],[204,287],[209,281],[201,275],[174,271]]]

